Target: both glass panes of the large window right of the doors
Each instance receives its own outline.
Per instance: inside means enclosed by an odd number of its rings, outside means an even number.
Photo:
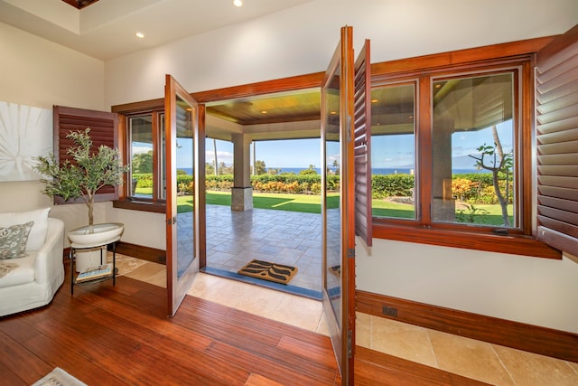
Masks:
[[[415,133],[415,81],[372,91],[375,217],[516,228],[517,72],[425,77],[431,87],[419,92],[431,93],[431,136]],[[426,154],[426,167],[416,168],[416,155]],[[420,188],[430,191],[429,216],[418,216]]]

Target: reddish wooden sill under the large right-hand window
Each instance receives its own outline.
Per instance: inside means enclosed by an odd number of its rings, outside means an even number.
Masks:
[[[456,231],[407,225],[373,223],[373,237],[444,247],[478,249],[545,259],[562,259],[562,252],[524,235],[496,235],[489,232]]]

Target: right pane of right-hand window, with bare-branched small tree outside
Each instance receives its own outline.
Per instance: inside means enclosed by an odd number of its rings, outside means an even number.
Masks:
[[[432,221],[515,228],[517,71],[432,80]]]

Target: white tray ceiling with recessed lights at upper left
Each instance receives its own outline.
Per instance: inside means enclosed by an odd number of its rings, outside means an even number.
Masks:
[[[106,61],[311,1],[0,0],[0,22]]]

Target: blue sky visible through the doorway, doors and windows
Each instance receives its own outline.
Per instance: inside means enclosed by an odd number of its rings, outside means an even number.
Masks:
[[[504,151],[511,151],[511,121],[498,126],[499,138],[504,147]],[[394,167],[414,167],[415,150],[414,136],[381,136],[371,138],[372,158],[371,164],[374,168],[394,168]],[[218,162],[226,165],[233,163],[233,144],[227,141],[217,140]],[[489,128],[472,132],[460,132],[452,135],[452,157],[458,158],[476,154],[476,148],[483,145],[492,145],[491,130]],[[191,140],[180,138],[178,140],[177,167],[191,167],[192,150]],[[321,141],[320,139],[291,139],[275,141],[257,141],[255,147],[251,146],[251,165],[253,164],[253,150],[256,150],[256,159],[265,161],[267,168],[303,168],[309,165],[320,168]],[[142,151],[150,150],[150,147],[135,146],[134,149]],[[212,163],[214,157],[213,140],[206,142],[206,162]],[[138,150],[137,150],[138,151]],[[328,164],[332,165],[333,160],[339,162],[339,147],[331,144],[328,149]],[[470,167],[469,159],[466,157],[465,165],[456,167]],[[471,160],[473,168],[475,161]]]

